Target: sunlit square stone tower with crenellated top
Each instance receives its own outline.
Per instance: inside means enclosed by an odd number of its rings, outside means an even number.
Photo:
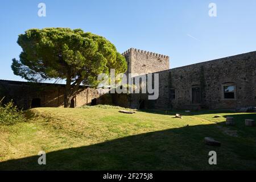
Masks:
[[[169,56],[130,48],[122,54],[127,60],[127,73],[145,75],[169,69]]]

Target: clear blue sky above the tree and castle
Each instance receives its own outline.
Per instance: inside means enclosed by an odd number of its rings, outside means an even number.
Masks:
[[[46,17],[38,4],[46,4]],[[217,17],[208,15],[216,3]],[[170,56],[170,68],[256,51],[255,0],[51,0],[0,2],[0,79],[11,70],[19,34],[29,28],[82,28],[105,36],[119,52],[130,47]]]

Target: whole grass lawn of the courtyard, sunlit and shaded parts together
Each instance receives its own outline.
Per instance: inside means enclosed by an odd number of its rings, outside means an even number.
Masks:
[[[201,170],[256,169],[256,113],[36,108],[28,121],[0,126],[0,169]],[[213,118],[214,115],[222,117]],[[225,126],[225,117],[236,126]],[[206,146],[205,137],[221,142]],[[47,164],[38,164],[46,151]],[[209,165],[209,151],[217,165]]]

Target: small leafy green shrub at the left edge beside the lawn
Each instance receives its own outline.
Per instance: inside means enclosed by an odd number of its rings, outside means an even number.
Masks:
[[[26,118],[22,110],[13,104],[13,101],[8,102],[5,105],[1,105],[0,102],[0,125],[13,125],[17,122],[24,122]]]

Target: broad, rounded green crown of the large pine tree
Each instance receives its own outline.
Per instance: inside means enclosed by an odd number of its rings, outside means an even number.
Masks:
[[[127,69],[125,57],[109,40],[81,29],[30,29],[19,35],[18,44],[20,60],[13,59],[11,67],[15,75],[30,81],[68,77],[93,84],[110,68],[116,73]]]

